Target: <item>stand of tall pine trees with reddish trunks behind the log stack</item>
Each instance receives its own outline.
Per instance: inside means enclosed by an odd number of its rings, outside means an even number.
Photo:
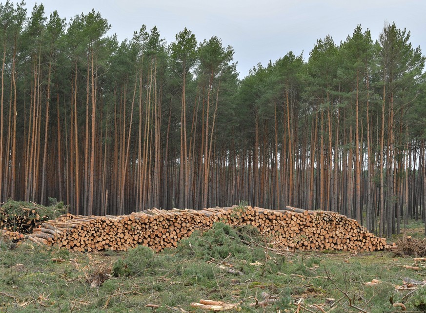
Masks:
[[[215,36],[168,43],[142,25],[119,42],[95,10],[65,21],[1,3],[0,201],[289,205],[399,233],[425,218],[425,57],[400,25],[354,27],[240,80]]]

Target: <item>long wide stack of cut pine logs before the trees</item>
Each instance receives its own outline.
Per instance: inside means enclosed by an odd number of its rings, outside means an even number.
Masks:
[[[357,221],[329,211],[292,207],[270,210],[248,207],[203,210],[151,209],[122,216],[64,214],[41,223],[27,238],[34,243],[70,250],[127,250],[144,245],[160,251],[176,247],[193,231],[215,222],[252,225],[276,247],[289,250],[382,250],[385,238],[375,237]]]

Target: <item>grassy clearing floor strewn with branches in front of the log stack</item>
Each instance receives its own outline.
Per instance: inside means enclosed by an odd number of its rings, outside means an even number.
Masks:
[[[422,224],[412,225],[406,234],[421,236]],[[395,288],[426,279],[417,263],[392,251],[276,253],[256,230],[221,223],[160,253],[0,242],[0,312],[198,313],[209,308],[191,306],[208,304],[201,299],[228,312],[426,312],[426,286]]]

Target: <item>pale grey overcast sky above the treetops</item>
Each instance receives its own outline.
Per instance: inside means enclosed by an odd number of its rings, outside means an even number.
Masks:
[[[2,1],[3,2],[3,1]],[[36,1],[26,0],[30,14]],[[142,24],[157,26],[170,43],[184,27],[198,42],[217,36],[232,45],[240,78],[257,63],[267,64],[288,51],[309,58],[317,39],[328,34],[337,44],[357,24],[378,39],[385,21],[411,32],[411,43],[426,49],[425,0],[42,0],[46,16],[57,10],[69,18],[92,8],[111,24],[119,41]],[[422,51],[425,55],[424,50]]]

